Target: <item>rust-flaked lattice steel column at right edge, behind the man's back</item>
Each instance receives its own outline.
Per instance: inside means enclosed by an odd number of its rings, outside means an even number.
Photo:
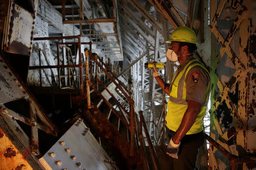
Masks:
[[[225,147],[229,163],[225,162],[222,155],[217,154],[216,149],[209,148],[209,165],[211,168],[230,167],[236,169],[238,164],[243,169],[255,168],[254,162],[245,159],[237,159],[236,156],[244,154],[255,154],[255,22],[252,22],[255,11],[253,1],[220,1],[210,23],[210,31],[220,44],[219,56],[212,58],[212,122],[211,136],[217,143]],[[232,18],[232,20],[230,20]],[[227,23],[223,24],[225,20]],[[225,31],[227,30],[228,31]],[[236,40],[239,40],[239,42]],[[215,49],[216,50],[216,49]],[[214,52],[214,51],[213,51]],[[218,53],[218,52],[217,52]],[[233,75],[224,73],[226,63],[220,62],[224,59],[233,63],[236,71]],[[219,65],[217,67],[217,65]],[[232,65],[232,64],[231,64]],[[219,70],[217,75],[214,73]],[[228,76],[229,80],[223,82],[222,77]],[[217,87],[216,87],[217,85]],[[218,134],[214,134],[214,130]],[[254,145],[252,144],[254,143]],[[219,149],[219,148],[218,148]],[[232,154],[234,158],[230,158]]]

